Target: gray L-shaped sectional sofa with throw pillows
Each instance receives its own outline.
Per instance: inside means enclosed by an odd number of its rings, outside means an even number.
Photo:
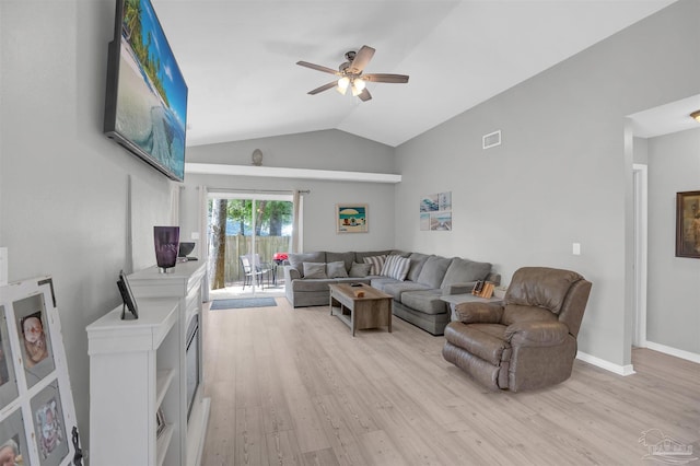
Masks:
[[[378,256],[408,258],[405,279],[382,275],[382,270],[368,273],[366,266],[361,265],[365,258],[372,261]],[[477,280],[501,281],[488,263],[402,251],[290,254],[289,263],[284,267],[284,292],[292,306],[328,305],[330,283],[368,283],[394,296],[394,315],[432,335],[443,335],[450,323],[450,308],[441,296],[469,293]]]

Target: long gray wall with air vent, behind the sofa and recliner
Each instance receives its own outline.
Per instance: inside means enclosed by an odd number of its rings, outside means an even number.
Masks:
[[[631,173],[625,116],[700,90],[700,2],[684,1],[397,150],[396,246],[528,265],[593,282],[580,350],[630,363]],[[503,144],[481,150],[501,129]],[[421,232],[418,201],[452,190],[452,232]],[[572,255],[572,243],[582,254]]]

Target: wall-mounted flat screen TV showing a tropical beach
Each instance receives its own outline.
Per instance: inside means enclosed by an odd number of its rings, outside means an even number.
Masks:
[[[117,0],[104,132],[172,179],[185,178],[187,84],[150,0]]]

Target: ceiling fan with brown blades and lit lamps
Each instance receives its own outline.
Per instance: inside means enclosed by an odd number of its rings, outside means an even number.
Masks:
[[[339,77],[337,80],[331,81],[328,84],[324,84],[313,91],[308,91],[308,94],[315,95],[319,92],[336,88],[338,92],[345,95],[346,92],[348,92],[348,88],[350,88],[353,96],[360,97],[362,102],[365,102],[372,98],[372,94],[370,94],[370,91],[366,89],[368,81],[390,83],[408,82],[408,75],[406,74],[362,74],[364,67],[366,67],[374,56],[374,51],[375,50],[372,47],[363,45],[358,51],[350,50],[346,53],[346,60],[348,61],[342,62],[340,67],[338,67],[338,71],[332,68],[322,67],[320,65],[310,63],[308,61],[298,61],[296,65]]]

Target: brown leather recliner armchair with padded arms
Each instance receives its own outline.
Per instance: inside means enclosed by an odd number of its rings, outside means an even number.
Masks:
[[[571,376],[591,287],[574,271],[521,268],[502,303],[456,306],[443,357],[492,389],[561,383]]]

